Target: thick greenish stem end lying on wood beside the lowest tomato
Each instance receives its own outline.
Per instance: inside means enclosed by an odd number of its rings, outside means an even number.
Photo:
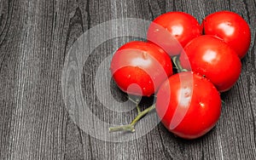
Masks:
[[[121,126],[117,126],[117,127],[112,127],[109,128],[109,132],[118,132],[118,131],[128,131],[128,132],[135,132],[134,126],[135,124],[142,118],[144,117],[146,114],[148,114],[148,112],[154,110],[155,108],[155,104],[152,106],[149,106],[147,109],[145,109],[144,111],[139,111],[137,114],[137,117],[135,117],[132,122],[130,124],[126,124],[126,125],[121,125]]]

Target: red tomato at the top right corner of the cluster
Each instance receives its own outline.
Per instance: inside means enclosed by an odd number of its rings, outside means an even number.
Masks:
[[[239,14],[220,11],[209,14],[202,22],[205,34],[224,39],[240,58],[247,54],[251,43],[251,32],[246,20]]]

